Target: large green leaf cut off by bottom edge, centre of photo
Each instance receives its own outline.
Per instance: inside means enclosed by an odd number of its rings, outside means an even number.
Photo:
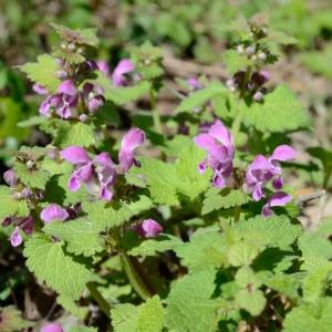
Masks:
[[[166,326],[174,331],[217,330],[217,302],[211,300],[216,272],[203,270],[176,280],[166,299]],[[199,319],[197,319],[199,318]]]

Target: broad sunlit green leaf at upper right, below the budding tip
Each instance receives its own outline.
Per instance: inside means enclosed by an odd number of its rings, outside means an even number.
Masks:
[[[264,133],[284,133],[309,126],[308,115],[291,90],[279,85],[263,97],[262,103],[243,105],[247,126]]]

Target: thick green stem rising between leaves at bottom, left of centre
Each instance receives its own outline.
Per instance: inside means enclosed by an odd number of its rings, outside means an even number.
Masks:
[[[134,290],[143,300],[151,298],[155,291],[137,259],[129,257],[124,250],[121,250],[118,255]]]

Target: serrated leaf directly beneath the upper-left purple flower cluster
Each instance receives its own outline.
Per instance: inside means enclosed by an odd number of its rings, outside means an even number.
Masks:
[[[92,125],[77,122],[71,124],[68,122],[59,123],[54,145],[60,147],[68,147],[71,145],[80,145],[89,147],[95,144],[95,133]]]

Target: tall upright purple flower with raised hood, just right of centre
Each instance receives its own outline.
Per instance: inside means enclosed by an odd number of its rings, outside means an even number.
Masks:
[[[198,165],[198,172],[205,173],[209,166],[214,172],[214,186],[224,188],[231,181],[235,154],[232,137],[221,121],[216,121],[208,133],[194,138],[196,145],[207,151],[208,156]]]

